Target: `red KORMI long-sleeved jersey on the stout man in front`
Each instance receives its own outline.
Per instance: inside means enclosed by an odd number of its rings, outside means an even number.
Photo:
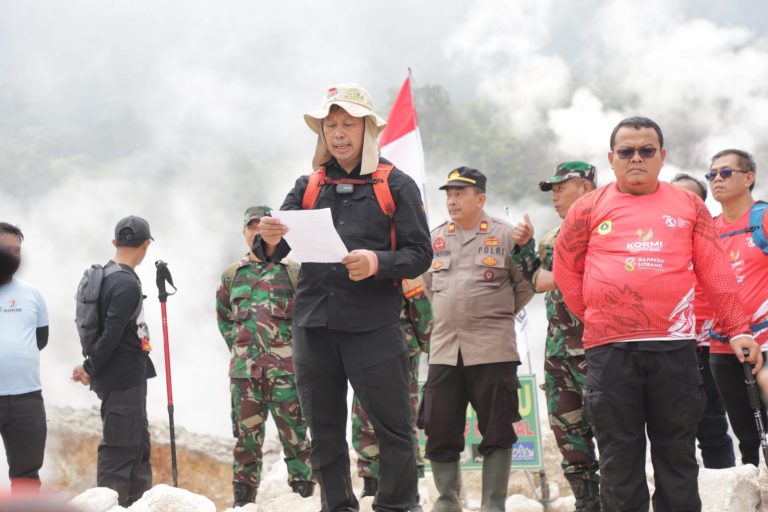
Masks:
[[[694,339],[698,280],[724,333],[749,332],[736,279],[706,206],[659,183],[635,196],[611,183],[570,208],[555,243],[555,281],[584,321],[584,348]]]

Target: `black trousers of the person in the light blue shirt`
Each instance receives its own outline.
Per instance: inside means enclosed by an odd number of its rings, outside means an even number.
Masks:
[[[18,479],[40,480],[47,433],[40,391],[0,396],[0,435],[12,486]]]

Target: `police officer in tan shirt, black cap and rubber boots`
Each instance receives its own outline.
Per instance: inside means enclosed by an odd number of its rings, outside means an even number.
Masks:
[[[483,210],[485,184],[477,169],[459,167],[440,187],[451,221],[432,231],[434,258],[424,279],[434,319],[420,420],[440,493],[436,512],[461,511],[459,459],[468,403],[483,436],[483,511],[504,510],[517,440],[515,315],[533,290],[512,263],[512,226]]]

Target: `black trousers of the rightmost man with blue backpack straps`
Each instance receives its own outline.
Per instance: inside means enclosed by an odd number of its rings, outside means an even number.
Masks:
[[[767,355],[768,353],[763,352],[763,357]],[[720,391],[720,396],[723,397],[725,410],[728,411],[731,428],[739,440],[741,462],[758,466],[760,463],[760,436],[757,433],[755,417],[747,399],[744,366],[736,359],[735,354],[711,354],[709,363],[717,389]],[[765,409],[763,409],[763,424],[768,425]]]

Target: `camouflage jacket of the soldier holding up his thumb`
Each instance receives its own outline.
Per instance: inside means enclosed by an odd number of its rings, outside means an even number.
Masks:
[[[535,280],[539,270],[552,270],[552,259],[555,251],[555,239],[560,228],[555,228],[539,241],[538,252],[534,249],[535,241],[531,240],[512,256],[513,261],[522,271],[531,286],[536,289]],[[583,356],[584,345],[581,337],[584,325],[565,305],[563,294],[559,289],[546,292],[544,303],[547,307],[547,357]]]

